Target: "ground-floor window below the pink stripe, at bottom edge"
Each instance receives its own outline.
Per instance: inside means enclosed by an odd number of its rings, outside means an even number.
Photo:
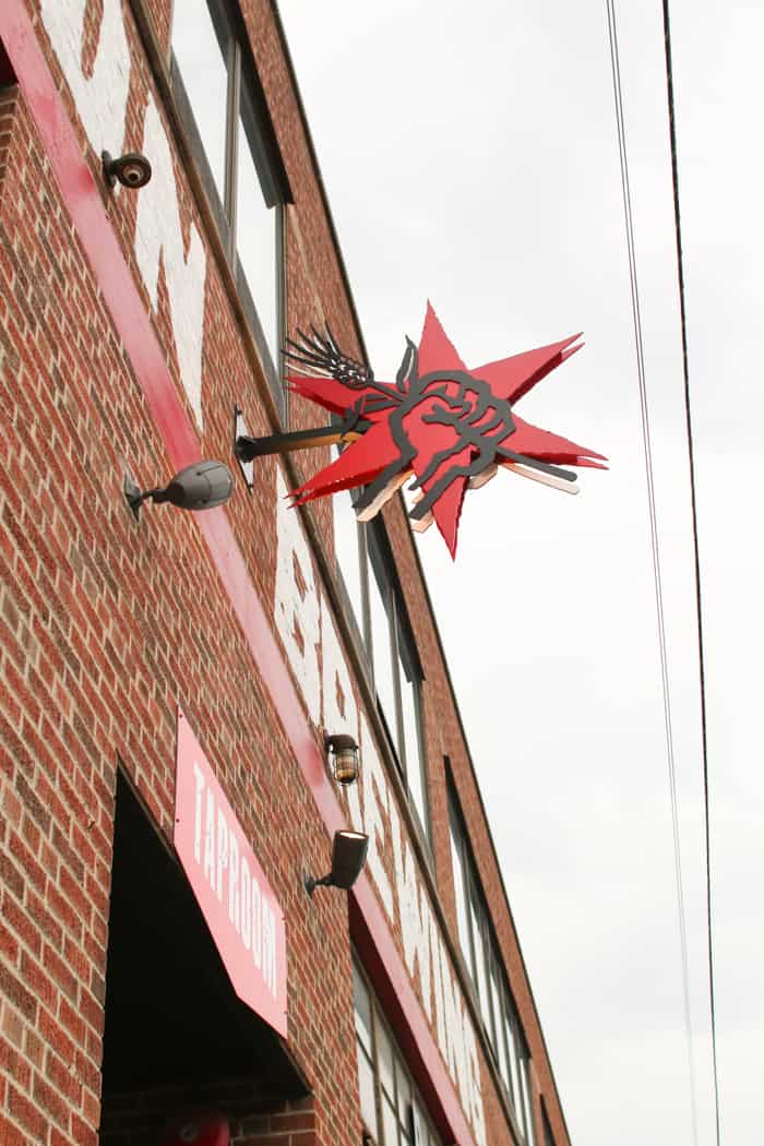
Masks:
[[[375,1146],[442,1146],[379,1004],[355,965],[353,989],[364,1130]]]

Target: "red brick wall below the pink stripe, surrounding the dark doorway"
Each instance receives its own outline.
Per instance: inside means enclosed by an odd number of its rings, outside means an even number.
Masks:
[[[167,464],[24,101],[14,108],[0,190],[5,1140],[97,1140],[117,760],[171,838],[182,699],[302,920],[291,1045],[316,1094],[332,1080],[324,1140],[357,1141],[346,904],[328,902],[318,924],[302,889],[304,870],[328,865],[325,832],[192,520],[158,509],[139,525],[123,502],[123,460],[157,476]],[[294,818],[274,833],[283,807]]]

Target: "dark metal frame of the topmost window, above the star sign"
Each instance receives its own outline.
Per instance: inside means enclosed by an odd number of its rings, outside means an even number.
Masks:
[[[178,115],[189,140],[191,155],[202,178],[220,242],[236,284],[239,304],[257,346],[262,371],[276,402],[282,424],[288,425],[288,391],[284,386],[281,354],[278,351],[284,344],[286,316],[284,207],[291,202],[292,196],[243,17],[229,3],[229,0],[203,0],[203,2],[206,3],[210,19],[218,38],[215,48],[220,46],[221,41],[226,41],[226,50],[221,48],[221,57],[227,77],[222,196],[212,172],[202,134],[194,115],[189,91],[183,80],[183,71],[173,46],[174,21],[178,16],[176,7],[175,11],[173,11],[168,48],[171,88]],[[269,211],[276,212],[274,219],[275,241],[273,251],[276,304],[274,338],[277,348],[275,362],[237,246],[238,126],[243,102],[242,93],[244,89],[246,89],[246,99],[252,112],[253,133],[257,135],[257,147],[250,147],[252,163],[260,181],[263,203]],[[242,120],[242,123],[244,121]]]

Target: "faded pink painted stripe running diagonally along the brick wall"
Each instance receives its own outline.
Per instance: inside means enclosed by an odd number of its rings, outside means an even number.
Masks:
[[[103,209],[99,189],[82,158],[74,129],[56,91],[23,0],[0,0],[0,40],[32,112],[64,202],[115,328],[129,355],[167,455],[178,469],[190,465],[199,457],[196,432],[170,377],[153,327]],[[346,826],[345,816],[326,779],[313,730],[304,714],[226,512],[223,509],[210,510],[195,517],[195,520],[207,543],[306,783],[326,829],[332,833]],[[405,1042],[412,1044],[430,1076],[423,1089],[436,1096],[455,1141],[460,1146],[474,1146],[454,1084],[440,1058],[368,877],[363,876],[359,880],[352,894],[408,1027]]]

